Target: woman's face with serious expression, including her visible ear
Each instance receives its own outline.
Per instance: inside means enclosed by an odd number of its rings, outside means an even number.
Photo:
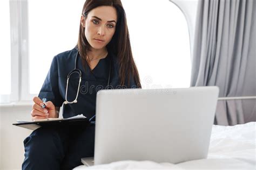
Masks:
[[[92,48],[102,49],[111,41],[116,31],[117,11],[112,6],[99,6],[91,10],[87,18],[81,17],[85,37]]]

